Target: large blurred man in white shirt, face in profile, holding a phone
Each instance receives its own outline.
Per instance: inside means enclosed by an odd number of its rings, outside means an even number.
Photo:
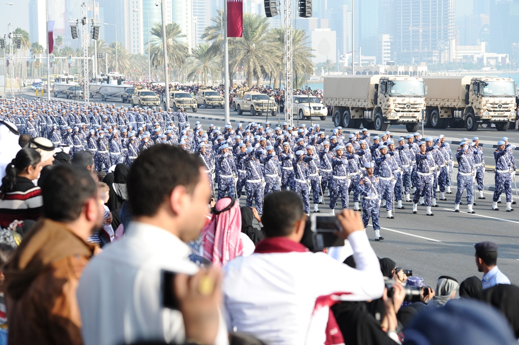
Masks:
[[[83,340],[86,345],[128,344],[137,340],[227,344],[223,318],[215,314],[213,336],[190,332],[183,313],[168,308],[163,296],[173,288],[163,271],[194,275],[186,241],[198,238],[206,222],[209,181],[197,156],[171,145],[145,150],[128,175],[128,203],[132,222],[124,239],[107,245],[86,267],[77,291]],[[214,280],[198,278],[204,294],[217,289]],[[203,284],[202,284],[203,281]],[[214,283],[214,284],[213,284]],[[166,284],[166,285],[165,285]],[[169,285],[168,285],[169,286]],[[207,294],[206,294],[207,295]],[[182,299],[180,302],[182,309]],[[172,297],[174,300],[174,297]],[[167,304],[167,306],[171,306]],[[184,313],[184,318],[185,318]],[[190,334],[191,333],[191,334]]]

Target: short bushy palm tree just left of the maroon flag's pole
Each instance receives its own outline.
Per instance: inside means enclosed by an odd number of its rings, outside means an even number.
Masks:
[[[214,56],[209,49],[207,43],[201,43],[193,49],[186,63],[190,67],[187,73],[188,79],[199,75],[202,77],[203,85],[207,85],[209,75],[213,80],[215,76],[220,77],[221,67],[218,64],[220,59]]]

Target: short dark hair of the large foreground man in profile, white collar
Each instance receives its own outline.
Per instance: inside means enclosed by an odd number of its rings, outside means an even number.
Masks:
[[[133,163],[127,178],[132,216],[153,216],[176,186],[192,193],[200,181],[202,161],[181,147],[154,145]]]

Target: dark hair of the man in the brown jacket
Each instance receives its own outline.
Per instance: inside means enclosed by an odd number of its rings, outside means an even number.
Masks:
[[[90,173],[73,165],[58,165],[40,180],[43,214],[57,222],[77,219],[85,201],[97,197],[97,184]]]

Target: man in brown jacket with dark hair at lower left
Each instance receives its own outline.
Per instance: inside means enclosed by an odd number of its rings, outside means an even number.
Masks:
[[[4,269],[9,344],[82,344],[76,288],[103,206],[85,169],[60,165],[41,183],[44,217]]]

